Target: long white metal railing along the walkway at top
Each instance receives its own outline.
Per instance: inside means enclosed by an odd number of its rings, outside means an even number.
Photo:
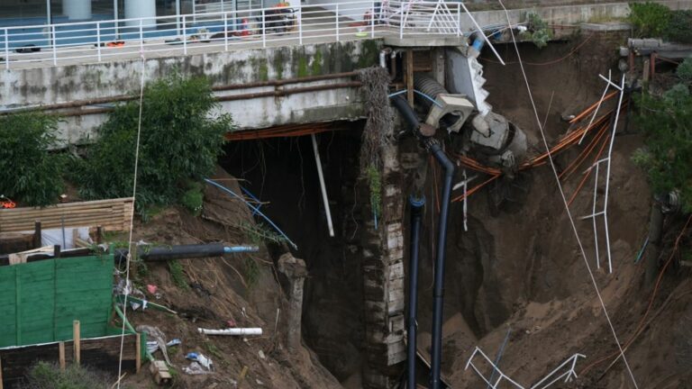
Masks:
[[[220,8],[230,3],[211,5]],[[384,36],[463,35],[463,5],[443,0],[349,0],[251,8],[260,3],[249,2],[249,9],[237,11],[215,12],[213,7],[214,12],[201,14],[0,27],[0,66],[57,66]]]

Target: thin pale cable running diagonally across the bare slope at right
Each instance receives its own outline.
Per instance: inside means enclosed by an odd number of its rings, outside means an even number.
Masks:
[[[509,12],[507,12],[505,5],[502,3],[502,0],[497,0],[497,1],[500,4],[500,6],[502,6],[502,9],[505,10],[505,15],[507,17],[507,23],[511,24],[511,21],[509,19]],[[610,330],[613,332],[613,338],[615,339],[615,344],[617,345],[617,348],[619,348],[619,350],[620,350],[620,355],[623,357],[624,366],[627,368],[627,372],[629,373],[630,378],[632,378],[634,388],[639,389],[639,385],[637,384],[637,380],[634,378],[632,368],[630,367],[630,364],[627,362],[627,357],[624,356],[624,350],[623,350],[622,345],[620,344],[620,339],[617,338],[617,333],[615,332],[615,326],[613,325],[613,321],[610,320],[610,315],[608,314],[608,311],[605,308],[605,302],[603,301],[603,297],[601,296],[601,293],[598,290],[598,285],[596,284],[596,277],[594,276],[594,273],[591,270],[591,266],[588,264],[586,251],[584,250],[584,246],[581,243],[581,239],[579,239],[579,233],[577,231],[577,225],[574,222],[574,218],[572,217],[572,213],[569,211],[569,205],[567,204],[567,197],[565,196],[565,192],[562,189],[562,184],[560,183],[560,177],[558,176],[558,170],[555,167],[554,161],[552,160],[551,149],[548,146],[548,140],[546,140],[545,132],[543,131],[543,127],[542,127],[542,123],[541,123],[541,119],[538,116],[538,110],[536,109],[536,104],[533,101],[533,94],[531,92],[531,86],[529,86],[529,79],[528,79],[528,77],[526,77],[526,71],[524,70],[524,64],[522,63],[522,56],[519,52],[519,46],[516,44],[516,39],[514,37],[514,31],[510,30],[510,33],[512,34],[512,41],[514,42],[514,50],[516,50],[516,57],[517,57],[518,62],[519,62],[519,67],[522,70],[522,75],[524,77],[524,83],[526,84],[526,91],[529,94],[529,100],[531,101],[531,105],[533,108],[533,114],[535,115],[536,123],[538,123],[538,129],[541,131],[541,137],[542,137],[543,145],[545,146],[545,149],[547,150],[547,153],[548,153],[548,160],[549,160],[550,165],[551,165],[552,173],[555,176],[555,181],[558,184],[558,189],[560,190],[560,196],[562,197],[562,203],[565,205],[565,211],[567,212],[567,215],[569,217],[569,224],[571,225],[572,232],[574,232],[574,236],[577,239],[579,250],[581,251],[581,257],[584,259],[584,263],[587,266],[588,275],[591,277],[591,283],[594,285],[594,289],[596,290],[596,296],[598,297],[598,302],[601,303],[601,308],[603,308],[603,312],[605,314],[605,320],[608,321],[608,325],[610,326]],[[606,177],[606,179],[607,179],[607,177]]]

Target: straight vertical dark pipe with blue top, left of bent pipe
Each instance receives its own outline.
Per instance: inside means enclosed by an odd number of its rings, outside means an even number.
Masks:
[[[418,323],[418,252],[421,238],[421,220],[423,219],[423,206],[425,198],[408,199],[411,204],[411,252],[408,262],[408,379],[406,380],[408,389],[415,389],[415,350],[416,350],[416,330]]]

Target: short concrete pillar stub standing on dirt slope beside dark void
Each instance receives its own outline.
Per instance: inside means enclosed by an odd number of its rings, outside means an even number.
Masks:
[[[288,278],[287,318],[287,348],[296,350],[301,347],[300,330],[303,317],[303,284],[307,276],[307,268],[303,259],[295,258],[291,253],[286,253],[278,258],[278,271]]]

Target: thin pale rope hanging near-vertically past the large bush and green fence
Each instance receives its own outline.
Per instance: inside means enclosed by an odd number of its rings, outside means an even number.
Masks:
[[[137,202],[137,169],[140,163],[140,135],[141,135],[141,112],[144,106],[144,55],[141,56],[141,77],[140,77],[140,113],[137,121],[137,141],[134,148],[134,178],[132,178],[132,213],[130,216],[130,234],[127,240],[127,258],[125,260],[125,287],[123,300],[123,328],[120,334],[120,357],[118,358],[118,377],[123,375],[123,347],[125,343],[125,323],[127,322],[127,297],[130,294],[130,261],[132,260],[132,227],[134,225],[134,204]],[[135,335],[139,336],[139,335]],[[137,350],[140,352],[140,350]],[[118,379],[117,388],[120,389],[121,379]]]

